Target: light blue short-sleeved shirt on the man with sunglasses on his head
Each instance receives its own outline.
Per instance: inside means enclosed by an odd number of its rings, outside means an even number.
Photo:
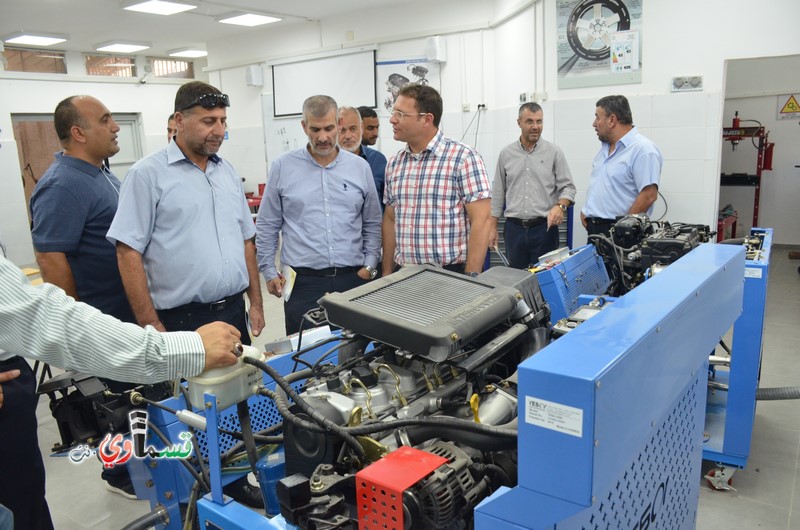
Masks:
[[[250,284],[244,242],[254,235],[233,166],[215,155],[204,173],[170,142],[128,171],[107,237],[142,254],[150,296],[161,310],[244,291]]]

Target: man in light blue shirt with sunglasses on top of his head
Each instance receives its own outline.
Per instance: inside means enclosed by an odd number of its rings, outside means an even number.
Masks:
[[[128,171],[107,237],[139,325],[188,331],[221,320],[250,344],[250,330],[258,336],[264,327],[264,309],[242,180],[217,155],[228,106],[228,96],[207,83],[178,89],[175,140]],[[240,485],[239,498],[258,505],[246,480]]]

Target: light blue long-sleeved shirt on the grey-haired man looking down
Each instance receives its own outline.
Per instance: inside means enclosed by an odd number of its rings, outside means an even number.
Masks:
[[[268,280],[278,276],[278,232],[284,265],[377,267],[381,206],[369,164],[344,149],[325,167],[307,147],[282,155],[270,168],[256,231],[258,270]]]

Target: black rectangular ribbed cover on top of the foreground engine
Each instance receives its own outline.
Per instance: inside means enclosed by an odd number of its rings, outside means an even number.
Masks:
[[[389,276],[319,300],[331,324],[444,361],[507,319],[518,291],[490,281],[409,265]]]

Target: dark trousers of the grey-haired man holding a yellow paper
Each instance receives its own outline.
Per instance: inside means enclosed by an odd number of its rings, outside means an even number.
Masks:
[[[344,272],[335,276],[313,276],[297,273],[294,288],[289,301],[283,305],[286,334],[291,335],[300,331],[303,315],[310,309],[317,307],[317,300],[325,293],[349,291],[359,285],[364,285],[366,280],[359,278],[357,271]],[[303,326],[307,328],[307,326]]]

